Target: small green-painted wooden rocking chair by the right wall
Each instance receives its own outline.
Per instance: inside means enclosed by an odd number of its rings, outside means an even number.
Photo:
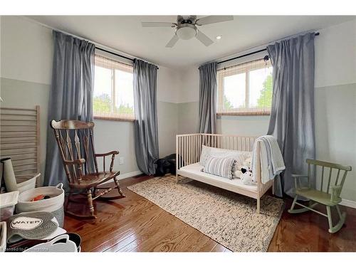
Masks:
[[[330,163],[330,162],[322,162],[320,160],[316,159],[307,159],[306,162],[308,163],[308,175],[300,175],[300,174],[292,174],[292,177],[294,178],[294,184],[295,184],[295,198],[293,200],[292,206],[290,206],[290,209],[288,209],[288,212],[291,214],[297,214],[297,213],[302,213],[305,211],[315,211],[316,213],[323,215],[328,218],[329,221],[329,232],[330,233],[336,233],[339,231],[342,227],[342,225],[345,222],[346,214],[343,212],[341,214],[340,207],[338,204],[342,201],[340,198],[340,193],[342,190],[342,186],[344,185],[345,178],[347,175],[347,172],[351,171],[351,166],[343,166],[340,164],[335,164],[335,163]],[[313,189],[310,186],[310,165],[315,166],[315,174],[317,171],[317,167],[321,167],[321,180],[320,180],[320,189]],[[324,170],[325,168],[329,168],[329,175],[328,175],[328,184],[324,184]],[[330,186],[330,182],[332,181],[333,177],[333,169],[337,170],[337,173],[335,175],[335,179],[333,179],[335,182],[332,182]],[[340,177],[340,171],[343,171],[342,178],[339,179]],[[301,187],[300,186],[300,178],[306,177],[308,178],[308,187]],[[326,182],[326,181],[325,181]],[[334,184],[334,185],[333,185]],[[331,189],[331,192],[330,192]],[[307,199],[310,199],[309,205],[305,206],[303,204],[300,204],[297,202],[298,196],[300,197],[305,197]],[[302,206],[303,208],[300,209],[295,209],[295,204]],[[320,211],[317,211],[313,209],[316,205],[318,204],[323,204],[326,206],[326,211],[327,214],[323,214]],[[335,206],[337,210],[337,214],[339,214],[339,221],[335,226],[333,226],[333,220],[331,217],[331,207]]]

